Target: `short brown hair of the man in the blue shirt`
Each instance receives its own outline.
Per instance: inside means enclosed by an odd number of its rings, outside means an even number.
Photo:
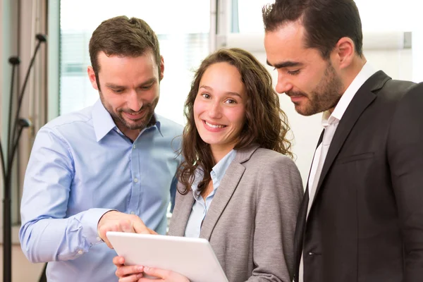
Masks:
[[[99,88],[98,73],[100,66],[98,56],[101,51],[107,56],[137,57],[151,50],[160,72],[161,56],[159,39],[157,39],[157,35],[152,28],[140,18],[118,16],[104,20],[92,32],[89,49],[91,65]]]

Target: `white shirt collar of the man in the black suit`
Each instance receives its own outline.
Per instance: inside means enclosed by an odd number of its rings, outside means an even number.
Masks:
[[[336,104],[335,109],[333,109],[332,114],[329,111],[324,111],[323,116],[321,117],[321,124],[326,127],[327,125],[338,123],[341,121],[343,114],[345,113],[348,105],[353,100],[355,93],[362,87],[364,82],[368,80],[372,75],[376,73],[376,70],[372,67],[370,63],[364,63],[361,71],[345,90],[344,94],[341,96],[338,104]]]

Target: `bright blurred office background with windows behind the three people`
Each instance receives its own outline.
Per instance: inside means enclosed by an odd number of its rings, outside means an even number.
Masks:
[[[87,78],[88,42],[102,20],[125,15],[143,18],[157,32],[165,73],[157,113],[184,124],[183,102],[192,74],[210,51],[240,47],[266,65],[261,8],[269,0],[0,0],[0,136],[6,140],[11,66],[20,56],[16,87],[23,83],[35,48],[35,35],[44,33],[42,46],[23,99],[20,116],[32,127],[23,132],[13,166],[12,240],[13,281],[38,281],[42,264],[27,262],[18,242],[19,202],[23,175],[37,130],[47,121],[90,106],[98,99]],[[392,78],[423,81],[423,4],[415,0],[356,0],[362,17],[364,55]],[[276,71],[269,71],[274,75]],[[297,114],[281,95],[290,121],[296,163],[304,182],[321,132],[321,116]],[[3,141],[2,141],[3,142]],[[4,151],[7,149],[4,146]],[[0,179],[2,191],[3,183]],[[3,192],[1,192],[3,194]],[[0,226],[1,222],[0,203]],[[0,234],[1,236],[1,234]],[[0,238],[2,247],[3,240]],[[0,248],[1,248],[0,247]],[[0,258],[0,274],[2,273]],[[25,269],[25,270],[24,270]]]

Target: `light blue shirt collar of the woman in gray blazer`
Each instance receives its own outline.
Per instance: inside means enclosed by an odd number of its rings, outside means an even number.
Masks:
[[[212,177],[212,181],[213,181],[213,191],[215,191],[219,187],[220,182],[226,173],[226,170],[231,165],[233,159],[235,159],[235,155],[236,155],[236,150],[232,149],[231,152],[228,152],[228,154],[226,154],[226,156],[223,157],[223,159],[221,159],[215,166],[213,166],[212,171],[210,172],[210,176]],[[195,199],[197,199],[198,183],[200,183],[203,176],[204,176],[204,173],[202,169],[197,168],[195,170],[195,180],[192,183],[192,194],[194,195]],[[201,196],[198,195],[198,197],[201,197]]]

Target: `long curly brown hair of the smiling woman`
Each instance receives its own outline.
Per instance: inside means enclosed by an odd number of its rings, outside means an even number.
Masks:
[[[198,195],[207,188],[211,180],[210,172],[215,165],[210,146],[198,134],[194,120],[194,101],[200,87],[204,72],[214,63],[226,62],[235,66],[245,86],[245,124],[240,132],[234,149],[242,149],[257,144],[266,149],[292,157],[290,142],[286,138],[289,130],[286,114],[281,110],[279,97],[272,85],[271,75],[252,54],[243,49],[220,49],[207,56],[194,75],[191,90],[185,102],[187,124],[183,130],[182,154],[184,161],[180,164],[179,180],[185,195],[191,190],[195,170],[200,168],[204,178],[198,185]]]

